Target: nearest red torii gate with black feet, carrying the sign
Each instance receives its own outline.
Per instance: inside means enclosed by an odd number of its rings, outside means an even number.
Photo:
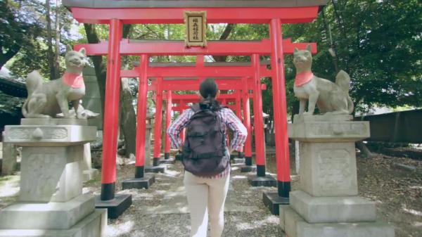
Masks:
[[[127,4],[127,6],[124,6]],[[164,5],[163,5],[164,4]],[[252,61],[259,61],[260,55],[271,56],[271,74],[274,102],[274,124],[276,136],[276,163],[278,193],[275,196],[265,193],[273,203],[288,202],[290,191],[290,166],[288,155],[286,88],[283,68],[283,53],[293,53],[295,45],[283,44],[282,23],[308,23],[316,18],[320,5],[325,0],[296,1],[79,1],[63,0],[63,5],[70,8],[73,17],[79,23],[97,23],[110,25],[109,41],[100,44],[82,45],[89,55],[107,55],[106,109],[103,138],[103,172],[101,201],[97,203],[108,207],[110,217],[117,217],[132,203],[130,196],[115,196],[115,154],[117,152],[117,130],[120,91],[121,55],[140,55],[140,98],[138,106],[138,124],[145,129],[145,101],[148,90],[146,70],[148,56],[153,55],[216,55],[216,56],[252,56]],[[126,7],[126,8],[125,8]],[[270,39],[260,42],[213,42],[206,48],[185,48],[183,42],[131,43],[122,40],[123,24],[181,24],[184,23],[184,11],[207,11],[207,23],[254,23],[269,24]],[[80,48],[76,47],[76,48]],[[298,45],[303,49],[304,46]],[[316,45],[312,44],[312,51]],[[260,78],[259,68],[255,77]],[[260,80],[256,83],[259,85]],[[162,91],[162,89],[160,89]],[[260,101],[261,91],[257,90],[254,98]],[[143,97],[141,97],[143,96]],[[260,101],[261,102],[261,101]],[[262,106],[262,103],[258,103]],[[145,109],[145,110],[144,110]],[[261,118],[260,118],[261,117]],[[262,114],[256,116],[262,119]],[[259,129],[258,129],[259,130]],[[256,132],[255,132],[256,133]],[[143,136],[142,136],[143,135]],[[145,132],[137,134],[137,151],[145,147]],[[139,141],[141,143],[139,143]],[[143,142],[143,144],[142,144]],[[139,153],[139,152],[137,152]],[[262,170],[264,167],[257,167]],[[264,170],[264,169],[263,169]],[[112,211],[112,212],[110,212]]]

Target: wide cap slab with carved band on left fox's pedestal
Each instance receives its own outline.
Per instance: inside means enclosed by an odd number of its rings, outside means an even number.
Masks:
[[[5,142],[18,146],[75,146],[96,140],[96,127],[79,125],[11,125]]]

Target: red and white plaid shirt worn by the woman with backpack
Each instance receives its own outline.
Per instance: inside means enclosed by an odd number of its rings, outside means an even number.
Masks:
[[[179,134],[181,130],[186,127],[188,121],[191,119],[194,113],[195,112],[191,108],[184,110],[184,113],[177,117],[177,119],[174,120],[174,122],[170,125],[169,129],[167,129],[167,134],[170,137],[172,148],[177,149],[183,146],[183,141],[181,141]],[[221,110],[217,111],[217,114],[222,118],[222,126],[224,131],[226,131],[227,128],[233,131],[233,139],[231,140],[230,147],[233,150],[241,151],[243,143],[245,143],[246,137],[248,136],[248,131],[246,130],[245,126],[229,108],[222,108]],[[221,177],[226,177],[229,172],[230,166],[227,167],[227,169],[224,170],[224,172],[221,174],[217,174],[215,177],[211,178],[218,179]]]

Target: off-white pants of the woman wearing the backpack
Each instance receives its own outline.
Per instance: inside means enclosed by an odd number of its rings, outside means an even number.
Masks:
[[[184,186],[191,212],[191,237],[206,237],[208,212],[210,213],[211,237],[220,237],[224,228],[224,202],[229,191],[230,174],[220,179],[184,174]]]

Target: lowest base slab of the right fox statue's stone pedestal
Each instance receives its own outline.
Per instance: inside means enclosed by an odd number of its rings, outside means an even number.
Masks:
[[[394,228],[382,222],[305,222],[291,207],[283,207],[284,228],[289,237],[394,237]]]

